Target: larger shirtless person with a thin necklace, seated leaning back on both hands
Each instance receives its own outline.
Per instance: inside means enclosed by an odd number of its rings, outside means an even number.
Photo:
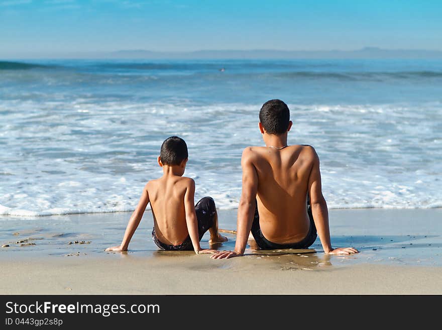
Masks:
[[[311,146],[287,145],[293,124],[287,104],[267,101],[259,119],[266,146],[243,151],[235,251],[218,252],[211,258],[242,256],[250,233],[263,250],[307,249],[319,235],[326,254],[358,253],[354,248],[332,247],[319,158]]]

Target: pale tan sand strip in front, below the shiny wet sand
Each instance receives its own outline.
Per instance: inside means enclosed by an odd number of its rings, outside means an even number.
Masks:
[[[440,294],[439,267],[119,255],[3,261],[3,294]],[[293,264],[292,264],[293,262]],[[305,262],[308,264],[308,261]],[[290,265],[290,266],[289,266]]]

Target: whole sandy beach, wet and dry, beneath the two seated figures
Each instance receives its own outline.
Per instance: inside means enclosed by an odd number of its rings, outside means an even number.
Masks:
[[[236,210],[220,210],[236,229]],[[146,211],[128,253],[121,242],[130,213],[0,218],[0,294],[440,294],[442,209],[330,210],[334,246],[253,251],[229,260],[157,250]],[[235,235],[218,249],[233,249]],[[208,234],[202,247],[208,247]],[[77,242],[77,243],[76,243]],[[28,245],[33,243],[33,245]],[[69,244],[71,243],[71,244]]]

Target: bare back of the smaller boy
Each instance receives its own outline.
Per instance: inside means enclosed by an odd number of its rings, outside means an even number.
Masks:
[[[181,244],[189,235],[184,196],[192,183],[190,178],[172,176],[151,180],[147,184],[155,233],[165,244]]]

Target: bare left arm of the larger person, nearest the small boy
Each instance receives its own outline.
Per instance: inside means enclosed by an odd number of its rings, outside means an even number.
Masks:
[[[250,149],[245,149],[241,158],[243,168],[243,189],[240,204],[238,205],[237,241],[235,251],[223,251],[213,255],[213,259],[232,258],[244,255],[250,230],[252,229],[253,215],[256,207],[258,191],[258,173],[253,165]]]

